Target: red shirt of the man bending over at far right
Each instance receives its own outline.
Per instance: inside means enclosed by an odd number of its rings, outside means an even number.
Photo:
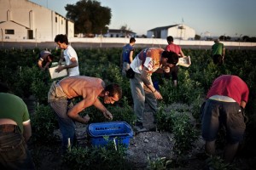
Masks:
[[[223,75],[214,80],[212,88],[208,91],[207,99],[213,95],[228,96],[240,105],[241,101],[247,102],[249,89],[240,77]]]

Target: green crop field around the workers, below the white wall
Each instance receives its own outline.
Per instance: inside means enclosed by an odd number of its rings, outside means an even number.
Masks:
[[[39,71],[36,65],[38,53],[43,48],[1,48],[0,81],[8,83],[14,94],[20,96],[29,105],[32,118],[32,139],[29,147],[38,169],[203,169],[206,156],[200,136],[200,108],[212,81],[222,74],[241,77],[250,90],[246,114],[247,130],[234,166],[236,169],[255,169],[256,138],[254,135],[256,121],[256,60],[255,50],[226,49],[224,65],[213,65],[209,48],[183,48],[183,53],[191,57],[187,67],[179,67],[179,85],[154,74],[158,81],[163,100],[159,102],[158,131],[138,133],[130,141],[129,150],[93,151],[85,134],[86,127],[78,124],[79,146],[69,156],[60,156],[61,145],[58,126],[53,111],[47,104],[47,94],[51,80],[49,72]],[[136,54],[141,47],[136,48]],[[49,48],[58,60],[61,52]],[[113,121],[125,121],[133,126],[135,118],[132,111],[130,83],[121,77],[119,56],[121,48],[75,48],[79,56],[80,74],[100,77],[105,82],[116,82],[123,88],[123,99],[108,110],[113,113]],[[90,107],[81,115],[89,114],[90,122],[105,122],[99,111]],[[150,110],[145,112],[150,117]],[[150,118],[148,126],[150,126]],[[175,123],[174,123],[175,122]],[[185,122],[185,123],[183,123]],[[183,133],[178,128],[183,129]],[[221,155],[224,137],[220,134],[218,151]],[[177,144],[179,141],[182,144]],[[94,153],[95,155],[92,155]],[[98,153],[101,156],[97,155]],[[163,157],[166,157],[164,159]],[[100,159],[100,161],[99,161]],[[118,163],[116,160],[119,159]],[[169,164],[167,163],[169,162]],[[218,160],[212,160],[215,169],[235,169],[224,166]],[[167,165],[168,164],[168,165]]]

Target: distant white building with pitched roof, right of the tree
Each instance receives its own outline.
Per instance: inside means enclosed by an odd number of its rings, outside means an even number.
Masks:
[[[195,38],[195,30],[189,26],[179,24],[172,26],[156,27],[147,31],[148,38],[164,38],[172,36],[174,39],[193,40]]]

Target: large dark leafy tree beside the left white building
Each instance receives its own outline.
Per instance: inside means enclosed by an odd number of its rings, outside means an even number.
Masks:
[[[80,0],[76,4],[67,4],[67,19],[74,21],[74,32],[84,34],[102,34],[108,31],[111,9],[102,7],[96,0]]]

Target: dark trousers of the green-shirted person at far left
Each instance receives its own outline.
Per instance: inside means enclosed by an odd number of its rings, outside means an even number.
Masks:
[[[0,132],[0,169],[35,169],[20,132]]]

